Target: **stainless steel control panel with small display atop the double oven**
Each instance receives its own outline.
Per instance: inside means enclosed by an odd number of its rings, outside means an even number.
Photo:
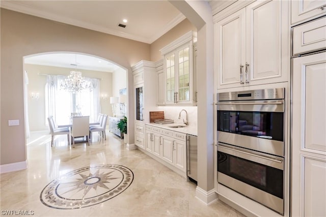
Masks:
[[[235,101],[235,100],[277,100],[284,99],[285,89],[257,89],[236,92],[221,92],[218,94],[218,101]]]

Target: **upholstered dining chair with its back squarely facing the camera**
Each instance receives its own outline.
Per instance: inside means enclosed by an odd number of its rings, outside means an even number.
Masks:
[[[89,139],[89,126],[90,126],[90,116],[73,116],[72,117],[72,127],[71,127],[71,139],[72,147],[75,147],[76,137],[85,137],[88,142]],[[88,142],[89,145],[89,142]]]

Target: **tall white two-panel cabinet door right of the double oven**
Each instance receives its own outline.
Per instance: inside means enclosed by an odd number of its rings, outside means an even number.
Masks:
[[[326,216],[326,52],[293,58],[292,73],[292,216]]]

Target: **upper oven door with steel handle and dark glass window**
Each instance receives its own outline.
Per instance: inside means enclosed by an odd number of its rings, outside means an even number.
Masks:
[[[218,102],[219,142],[284,156],[284,100]]]

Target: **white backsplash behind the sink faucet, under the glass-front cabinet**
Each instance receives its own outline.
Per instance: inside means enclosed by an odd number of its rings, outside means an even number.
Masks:
[[[197,106],[158,106],[159,111],[164,111],[164,118],[173,119],[175,123],[183,123],[185,112],[181,113],[181,119],[178,119],[180,111],[184,109],[188,113],[188,125],[197,126]]]

